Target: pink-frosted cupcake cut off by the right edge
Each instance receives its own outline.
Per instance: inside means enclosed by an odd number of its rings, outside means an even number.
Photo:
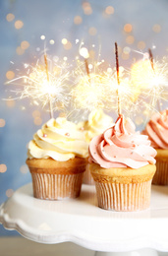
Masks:
[[[148,136],[157,151],[156,173],[152,183],[168,185],[168,109],[155,113],[142,133]]]

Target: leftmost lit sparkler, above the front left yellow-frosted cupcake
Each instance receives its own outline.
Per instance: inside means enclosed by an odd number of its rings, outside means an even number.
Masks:
[[[41,104],[47,110],[48,107],[46,106],[49,103],[49,111],[52,118],[53,111],[64,108],[69,101],[67,81],[70,72],[66,65],[59,66],[51,60],[48,62],[46,54],[44,54],[44,62],[45,65],[40,65],[39,61],[37,61],[34,67],[25,64],[28,76],[18,77],[7,84],[23,87],[23,89],[11,90],[11,92],[16,94],[16,97],[13,99],[29,97],[32,99],[33,104]]]

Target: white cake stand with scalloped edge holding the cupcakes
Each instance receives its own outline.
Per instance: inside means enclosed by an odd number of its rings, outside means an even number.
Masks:
[[[94,186],[83,185],[78,199],[46,201],[33,198],[28,184],[1,205],[0,223],[30,240],[71,241],[96,255],[157,255],[168,252],[168,187],[152,186],[150,209],[123,213],[98,208]]]

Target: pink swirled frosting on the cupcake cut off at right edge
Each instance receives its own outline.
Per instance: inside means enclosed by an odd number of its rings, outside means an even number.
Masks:
[[[168,109],[155,113],[142,133],[148,136],[155,149],[168,150]]]

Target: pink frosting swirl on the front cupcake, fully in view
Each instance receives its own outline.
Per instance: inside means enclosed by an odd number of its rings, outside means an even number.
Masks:
[[[136,132],[130,119],[120,115],[115,125],[94,137],[89,144],[89,162],[103,168],[140,168],[155,163],[156,151],[150,147],[146,135]]]

